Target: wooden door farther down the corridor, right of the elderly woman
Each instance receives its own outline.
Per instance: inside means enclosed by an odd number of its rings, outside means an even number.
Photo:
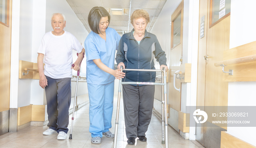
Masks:
[[[181,92],[174,89],[175,85],[181,89],[181,81],[176,79],[176,83],[173,81],[173,74],[177,70],[180,70],[182,64],[182,37],[183,37],[183,1],[178,5],[176,10],[172,14],[172,36],[171,36],[171,51],[170,51],[170,72],[169,72],[169,107],[170,118],[168,123],[178,133],[178,112],[181,106]]]

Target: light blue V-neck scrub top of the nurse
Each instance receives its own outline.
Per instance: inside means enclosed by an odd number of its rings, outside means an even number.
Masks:
[[[98,68],[93,60],[100,58],[107,67],[115,69],[114,58],[120,38],[116,30],[109,27],[106,29],[106,41],[93,31],[86,37],[84,49],[86,53],[87,83],[103,85],[115,80],[113,75]]]

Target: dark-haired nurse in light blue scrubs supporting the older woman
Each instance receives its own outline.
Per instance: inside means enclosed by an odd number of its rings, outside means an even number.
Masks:
[[[110,15],[103,7],[94,7],[88,16],[91,32],[84,41],[86,77],[89,93],[91,143],[100,144],[102,135],[114,138],[112,127],[114,80],[125,73],[114,67],[120,35],[109,28]]]

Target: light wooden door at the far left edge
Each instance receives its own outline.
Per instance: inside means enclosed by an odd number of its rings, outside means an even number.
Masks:
[[[8,13],[0,19],[0,135],[8,132],[11,71],[11,0],[3,2],[7,7],[1,9],[6,10],[2,13]]]

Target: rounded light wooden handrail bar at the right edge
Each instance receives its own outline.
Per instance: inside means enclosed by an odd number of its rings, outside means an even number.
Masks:
[[[233,58],[230,60],[224,60],[224,61],[219,61],[215,62],[214,66],[219,67],[222,65],[233,65],[233,64],[241,64],[241,63],[246,63],[246,62],[255,62],[256,61],[256,54],[251,55],[251,56],[245,56],[245,57],[239,57],[239,58]]]

